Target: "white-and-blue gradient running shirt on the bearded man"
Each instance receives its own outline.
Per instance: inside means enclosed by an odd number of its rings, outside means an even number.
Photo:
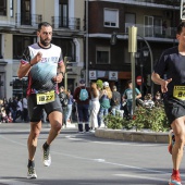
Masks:
[[[42,60],[34,64],[28,74],[27,95],[55,90],[57,83],[52,81],[57,76],[58,65],[63,62],[62,50],[55,45],[50,48],[41,48],[39,44],[30,45],[23,53],[21,63],[28,63],[38,53],[42,53]]]

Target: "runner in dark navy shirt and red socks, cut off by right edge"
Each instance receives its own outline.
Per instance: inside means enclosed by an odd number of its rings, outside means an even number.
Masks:
[[[185,144],[185,23],[177,26],[178,46],[165,50],[151,75],[161,85],[164,109],[172,131],[169,133],[169,152],[172,153],[173,172],[169,185],[182,185],[180,165]]]

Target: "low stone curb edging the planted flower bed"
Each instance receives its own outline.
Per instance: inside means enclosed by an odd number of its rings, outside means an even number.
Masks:
[[[168,133],[145,133],[145,132],[130,132],[121,130],[98,128],[95,132],[96,137],[118,139],[125,141],[143,141],[143,143],[159,143],[168,144]]]

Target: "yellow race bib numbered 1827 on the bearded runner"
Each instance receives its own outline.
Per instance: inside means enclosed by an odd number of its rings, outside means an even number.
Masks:
[[[54,101],[54,90],[47,91],[45,94],[37,94],[37,104],[46,104]]]

